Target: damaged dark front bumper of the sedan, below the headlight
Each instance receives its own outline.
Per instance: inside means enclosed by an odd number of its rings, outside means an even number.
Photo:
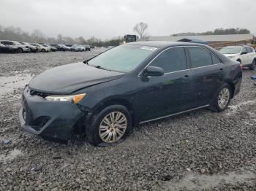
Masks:
[[[85,115],[71,102],[46,101],[39,95],[30,95],[25,87],[19,112],[20,125],[30,133],[53,139],[68,140],[72,130]]]

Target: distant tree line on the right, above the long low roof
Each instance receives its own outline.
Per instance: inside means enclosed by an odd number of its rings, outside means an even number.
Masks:
[[[216,28],[214,31],[206,31],[203,33],[179,33],[171,36],[195,36],[195,35],[220,35],[220,34],[250,34],[246,28]]]

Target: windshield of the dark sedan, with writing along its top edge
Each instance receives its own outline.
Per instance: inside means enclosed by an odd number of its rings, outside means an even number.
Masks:
[[[139,66],[154,50],[157,48],[124,44],[98,55],[88,64],[102,69],[129,72]]]

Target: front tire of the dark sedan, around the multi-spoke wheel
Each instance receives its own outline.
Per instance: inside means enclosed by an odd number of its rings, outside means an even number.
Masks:
[[[121,126],[122,128],[111,125],[111,114],[114,114],[112,115],[112,117],[114,116],[113,119],[117,119],[119,117],[120,123],[118,124],[119,127]],[[106,117],[108,120],[105,120]],[[124,118],[125,120],[123,121]],[[121,120],[123,122],[121,122]],[[116,120],[114,121],[116,122]],[[109,122],[109,125],[107,125],[106,122]],[[101,130],[99,130],[100,126],[102,127]],[[126,127],[126,129],[124,129],[124,127]],[[101,112],[94,114],[94,116],[91,117],[91,121],[86,122],[86,136],[90,144],[95,146],[110,146],[124,141],[131,128],[132,117],[129,110],[125,106],[112,105],[107,106],[105,109],[102,109]],[[120,130],[121,133],[123,133],[122,135],[118,133]],[[104,134],[106,136],[104,136]],[[116,135],[116,139],[114,139],[114,134]],[[110,137],[109,141],[108,137]]]

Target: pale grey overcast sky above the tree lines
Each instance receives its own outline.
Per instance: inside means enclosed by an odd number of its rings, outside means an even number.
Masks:
[[[151,36],[215,28],[256,34],[256,0],[0,0],[0,25],[47,36],[110,39],[148,23]]]

